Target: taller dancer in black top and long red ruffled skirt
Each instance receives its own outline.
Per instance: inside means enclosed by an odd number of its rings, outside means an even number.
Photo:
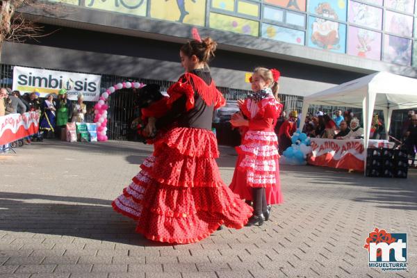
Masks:
[[[145,238],[166,243],[195,243],[220,225],[240,229],[252,208],[220,178],[218,146],[211,131],[213,110],[225,101],[207,67],[216,43],[191,40],[181,47],[186,69],[167,93],[168,111],[149,118],[147,129],[165,126],[156,136],[154,153],[113,208],[136,221]],[[170,126],[167,128],[167,126]]]

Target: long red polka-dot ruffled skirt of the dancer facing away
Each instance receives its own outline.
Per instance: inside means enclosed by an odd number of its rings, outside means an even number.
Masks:
[[[138,233],[167,243],[195,243],[221,224],[240,229],[252,208],[224,184],[217,157],[211,131],[171,129],[113,208],[136,220]]]

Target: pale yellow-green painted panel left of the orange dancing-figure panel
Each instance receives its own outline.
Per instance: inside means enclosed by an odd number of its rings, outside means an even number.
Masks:
[[[172,1],[172,0],[171,0]],[[146,0],[85,0],[85,6],[128,15],[146,16]]]

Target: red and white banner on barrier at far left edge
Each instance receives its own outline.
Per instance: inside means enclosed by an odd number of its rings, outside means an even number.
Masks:
[[[0,117],[0,145],[31,136],[39,130],[39,113],[11,114]]]

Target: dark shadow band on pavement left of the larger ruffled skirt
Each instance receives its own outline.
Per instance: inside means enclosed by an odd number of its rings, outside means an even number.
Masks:
[[[135,223],[111,201],[0,192],[0,230],[74,236],[139,246],[165,246],[135,233]]]

